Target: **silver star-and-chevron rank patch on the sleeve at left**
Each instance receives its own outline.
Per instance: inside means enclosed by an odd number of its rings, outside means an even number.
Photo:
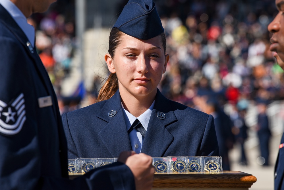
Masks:
[[[11,104],[0,100],[0,132],[14,135],[20,132],[26,121],[25,99],[21,93]]]

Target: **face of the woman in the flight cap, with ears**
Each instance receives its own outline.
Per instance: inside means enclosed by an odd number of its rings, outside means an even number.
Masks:
[[[117,75],[121,96],[151,98],[156,95],[169,55],[164,54],[160,36],[139,40],[123,34],[114,57],[105,54],[105,61],[109,71]]]

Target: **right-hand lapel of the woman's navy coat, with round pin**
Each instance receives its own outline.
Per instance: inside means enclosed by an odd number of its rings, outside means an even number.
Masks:
[[[159,112],[165,114],[165,119],[157,117]],[[173,136],[166,126],[175,121],[177,121],[177,118],[171,109],[169,100],[158,90],[141,152],[152,157],[163,157],[167,148],[173,142]]]

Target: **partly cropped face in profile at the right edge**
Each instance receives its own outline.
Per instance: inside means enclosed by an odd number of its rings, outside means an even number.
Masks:
[[[270,50],[274,52],[273,56],[277,63],[284,69],[284,0],[275,0],[278,14],[268,25],[268,30],[273,33],[271,37]]]

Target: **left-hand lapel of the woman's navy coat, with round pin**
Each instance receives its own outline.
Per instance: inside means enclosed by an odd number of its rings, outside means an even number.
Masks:
[[[109,117],[108,113],[113,110],[117,113],[113,117]],[[97,117],[108,122],[99,132],[99,136],[113,157],[119,156],[122,151],[132,150],[121,107],[119,90],[106,101]]]

